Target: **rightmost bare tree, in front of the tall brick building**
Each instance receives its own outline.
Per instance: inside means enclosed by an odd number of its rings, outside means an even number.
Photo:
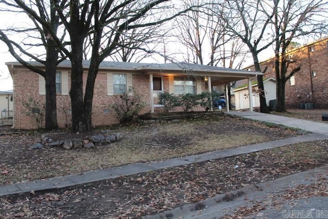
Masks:
[[[301,67],[297,62],[291,65],[286,51],[299,36],[310,36],[327,33],[328,2],[311,0],[274,0],[271,5],[265,5],[274,11],[272,24],[275,39],[275,73],[277,83],[276,111],[286,111],[285,84]],[[290,69],[292,68],[292,69]]]

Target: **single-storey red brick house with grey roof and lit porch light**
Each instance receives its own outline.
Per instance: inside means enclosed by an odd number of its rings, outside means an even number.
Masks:
[[[38,63],[31,63],[43,67]],[[27,116],[23,102],[29,98],[45,104],[45,80],[19,63],[6,63],[14,84],[14,128],[34,129],[36,122]],[[87,78],[89,62],[84,62]],[[258,72],[257,72],[258,73]],[[213,66],[202,66],[187,63],[171,64],[141,64],[103,62],[99,66],[93,95],[93,126],[104,126],[117,123],[116,114],[110,108],[123,92],[130,86],[143,96],[147,107],[141,113],[154,112],[158,107],[156,94],[169,93],[201,93],[211,91],[213,86],[251,78],[256,72],[235,70]],[[208,81],[205,80],[208,78]],[[57,66],[57,121],[59,127],[71,124],[70,90],[70,62],[64,61]],[[152,83],[150,83],[152,82]],[[197,110],[203,110],[199,108]]]

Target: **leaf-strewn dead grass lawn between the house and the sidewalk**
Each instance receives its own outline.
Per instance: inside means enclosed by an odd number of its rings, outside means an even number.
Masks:
[[[100,132],[100,130],[98,130]],[[162,161],[172,157],[233,148],[296,135],[295,131],[268,127],[230,116],[207,116],[180,122],[118,127],[122,140],[94,149],[31,149],[39,132],[0,136],[0,185],[40,180],[113,166]],[[67,136],[66,136],[67,134]],[[57,136],[57,135],[53,135]],[[62,133],[61,136],[69,136]],[[55,140],[55,139],[54,139]]]

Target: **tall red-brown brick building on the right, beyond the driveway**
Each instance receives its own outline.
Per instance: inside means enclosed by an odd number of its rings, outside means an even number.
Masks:
[[[311,103],[314,108],[328,108],[328,38],[292,49],[286,53],[291,61],[289,71],[301,67],[285,87],[285,103],[287,108],[304,108]],[[263,79],[274,77],[274,58],[261,62],[261,69],[268,66]],[[244,68],[254,70],[254,66]],[[239,81],[238,86],[245,84]]]

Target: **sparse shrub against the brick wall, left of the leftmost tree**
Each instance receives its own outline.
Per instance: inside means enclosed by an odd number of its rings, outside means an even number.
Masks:
[[[23,101],[22,104],[26,109],[23,111],[23,114],[33,118],[36,121],[37,128],[42,128],[46,106],[35,101],[32,97],[28,101]]]

